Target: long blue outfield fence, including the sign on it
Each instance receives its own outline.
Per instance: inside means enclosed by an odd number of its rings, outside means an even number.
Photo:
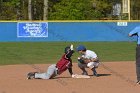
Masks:
[[[135,41],[140,22],[0,22],[0,42]]]

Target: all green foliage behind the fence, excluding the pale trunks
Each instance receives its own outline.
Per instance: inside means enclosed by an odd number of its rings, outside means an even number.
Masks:
[[[48,0],[49,20],[92,20],[112,16],[122,0]],[[131,19],[140,18],[139,0],[131,0]],[[33,20],[43,20],[44,0],[32,0]],[[28,20],[28,0],[0,0],[1,20]]]

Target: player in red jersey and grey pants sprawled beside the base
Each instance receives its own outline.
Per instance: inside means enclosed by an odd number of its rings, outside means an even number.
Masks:
[[[48,67],[48,70],[44,73],[30,72],[27,74],[27,79],[52,79],[53,77],[62,74],[67,69],[70,75],[73,77],[72,72],[72,59],[71,56],[74,53],[73,45],[68,46],[64,50],[64,54],[57,64],[52,64]]]

